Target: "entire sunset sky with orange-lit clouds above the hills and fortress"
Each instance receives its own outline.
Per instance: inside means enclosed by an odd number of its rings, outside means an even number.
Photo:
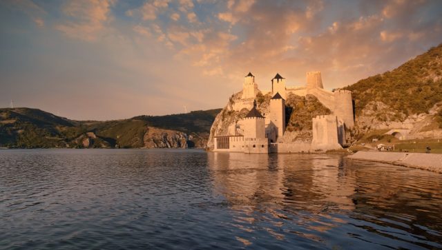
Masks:
[[[224,107],[320,71],[326,89],[442,43],[442,1],[2,0],[0,107],[76,120]]]

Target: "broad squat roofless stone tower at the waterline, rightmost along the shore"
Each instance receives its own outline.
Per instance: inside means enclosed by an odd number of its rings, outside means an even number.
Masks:
[[[338,118],[334,115],[316,116],[313,118],[314,149],[340,149],[338,140]]]

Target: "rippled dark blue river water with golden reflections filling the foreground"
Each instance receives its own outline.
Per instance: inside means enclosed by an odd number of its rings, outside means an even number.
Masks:
[[[0,150],[0,249],[441,249],[442,174],[338,155]]]

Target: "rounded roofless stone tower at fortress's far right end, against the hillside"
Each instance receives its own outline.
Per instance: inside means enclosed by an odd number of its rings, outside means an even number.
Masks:
[[[354,127],[352,92],[336,90],[334,92],[334,114],[345,123],[345,127]]]

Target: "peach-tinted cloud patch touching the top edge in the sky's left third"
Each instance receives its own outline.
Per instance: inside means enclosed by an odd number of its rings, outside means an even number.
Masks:
[[[62,12],[73,19],[55,25],[55,29],[66,36],[84,41],[96,41],[105,23],[110,20],[113,0],[75,0],[69,1]]]

